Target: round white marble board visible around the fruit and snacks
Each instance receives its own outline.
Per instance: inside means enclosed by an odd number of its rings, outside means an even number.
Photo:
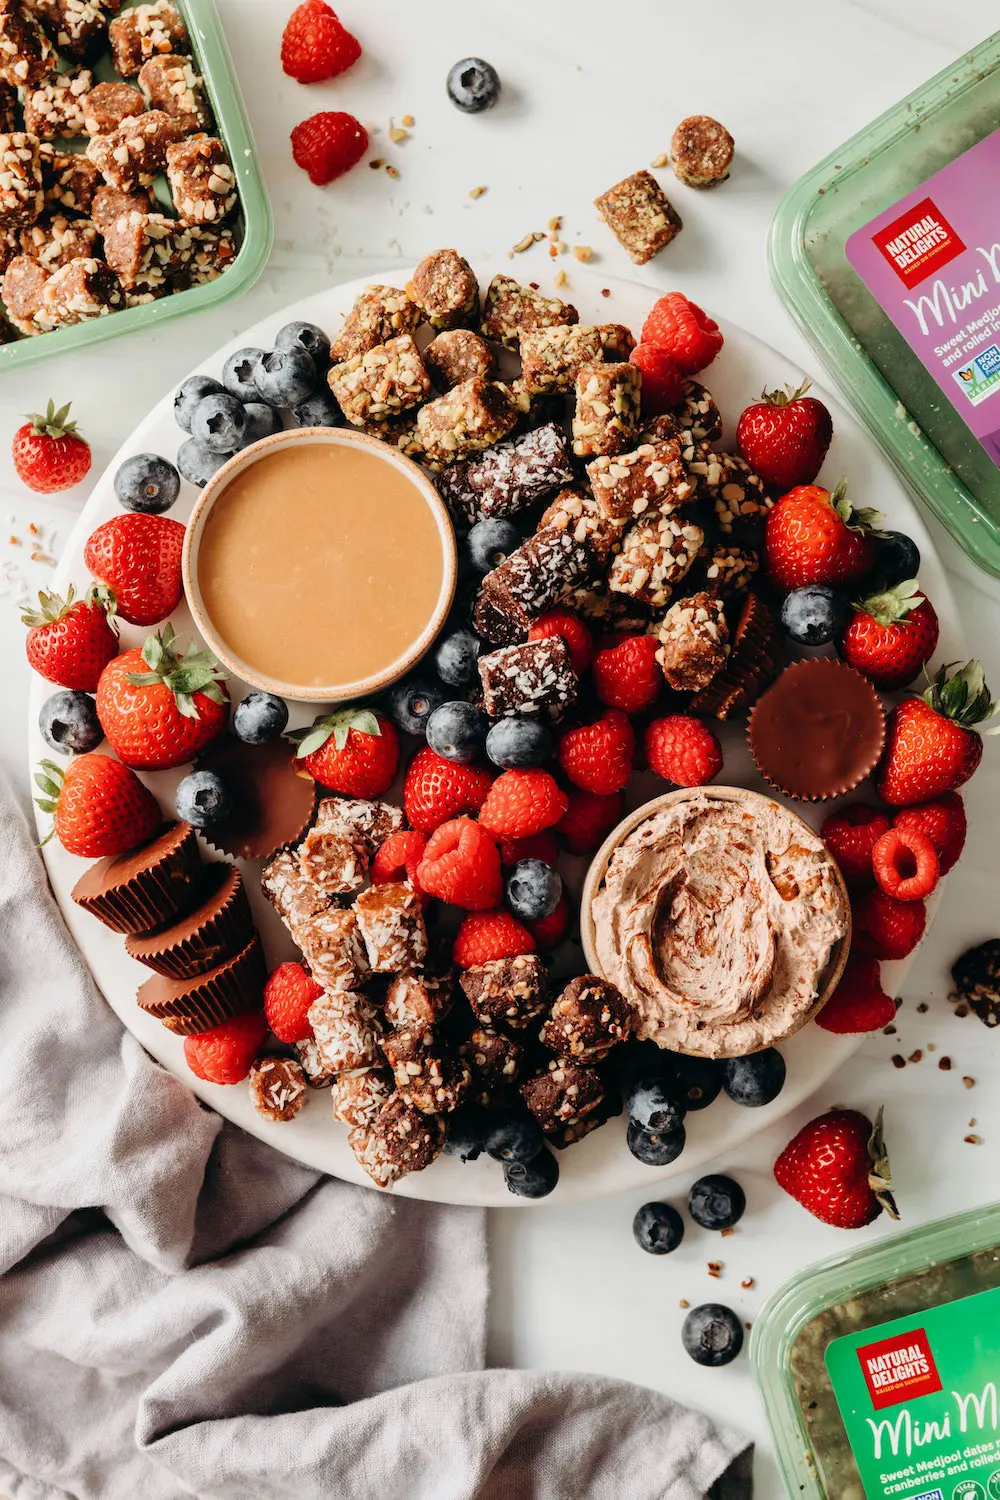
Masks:
[[[483,285],[489,282],[496,268],[478,267]],[[510,267],[507,262],[501,268],[516,273],[516,267]],[[403,286],[409,274],[409,268],[393,268],[381,278],[369,276],[367,282],[384,280]],[[213,358],[199,364],[198,370],[217,378],[223,360],[231,352],[244,345],[270,348],[277,330],[291,320],[301,318],[318,322],[328,333],[336,334],[363,285],[363,282],[349,282],[340,286],[330,286],[313,297],[286,308],[282,314],[265,318],[262,322],[246,328],[238,339],[219,350]],[[541,290],[556,294],[552,273],[543,276]],[[571,300],[579,308],[580,321],[625,322],[636,333],[658,296],[651,286],[603,279],[594,272],[576,266],[571,272],[570,286],[561,290],[558,294]],[[742,408],[754,400],[765,386],[772,388],[784,382],[799,384],[802,370],[735,324],[723,322],[723,332],[726,334],[726,346],[715,363],[705,372],[703,380],[723,411],[726,434],[721,446],[726,448],[735,446],[733,430]],[[969,652],[955,600],[913,501],[888,460],[879,453],[874,442],[844,406],[820,388],[817,388],[816,394],[831,408],[835,428],[834,442],[820,476],[822,482],[832,489],[838,476],[850,476],[850,492],[858,504],[874,506],[885,513],[888,525],[906,531],[913,537],[924,558],[921,580],[940,616],[942,636],[936,660],[966,660]],[[70,582],[81,591],[88,584],[88,573],[84,566],[84,544],[97,525],[118,513],[120,507],[112,488],[118,465],[130,454],[145,452],[162,453],[174,459],[184,434],[174,423],[172,396],[172,390],[163,396],[159,405],[153,408],[126,440],[105,474],[97,480],[63,554],[54,585],[60,592]],[[184,520],[198,494],[193,486],[183,484],[181,496],[171,516]],[[186,606],[181,604],[172,616],[172,624],[181,639],[186,639],[192,633],[193,627]],[[123,644],[126,648],[141,644],[145,634],[148,632],[124,626],[121,632]],[[241,684],[231,682],[229,686],[234,700],[243,696],[244,688]],[[52,754],[37,730],[39,710],[51,692],[51,684],[34,678],[28,723],[28,756],[33,766],[42,756]],[[310,722],[313,706],[292,705],[292,728]],[[721,726],[721,740],[726,752],[726,766],[718,780],[735,786],[768,790],[747,752],[742,722]],[[160,798],[166,816],[172,816],[172,790],[181,776],[183,770],[162,771],[144,777]],[[649,778],[645,795],[654,795],[652,780]],[[655,790],[663,789],[663,783],[658,783],[655,788]],[[813,808],[804,808],[802,804],[792,806],[796,807],[796,812],[805,812],[805,816],[816,825],[829,812],[829,804]],[[48,832],[48,825],[49,819],[39,813],[39,830],[42,834]],[[213,856],[211,850],[205,852],[208,858]],[[55,840],[45,846],[43,855],[52,890],[73,939],[90,964],[108,1004],[147,1052],[165,1068],[177,1074],[178,1078],[214,1110],[253,1136],[261,1137],[261,1140],[268,1142],[277,1150],[283,1150],[310,1167],[321,1168],[349,1182],[370,1185],[348,1146],[346,1126],[334,1122],[331,1116],[328,1090],[310,1090],[306,1107],[294,1120],[288,1124],[270,1124],[255,1112],[246,1084],[220,1088],[192,1077],[184,1065],[181,1040],[165,1030],[153,1017],[139,1011],[135,1004],[135,992],[142,980],[148,976],[148,970],[126,956],[120,936],[102,927],[100,922],[72,903],[70,890],[85,867],[84,861],[66,854]],[[261,897],[256,867],[249,868],[247,885],[264,936],[268,963],[274,964],[285,957],[294,957],[288,936],[280,928],[267,902]],[[940,891],[936,892],[930,903],[928,916],[931,918]],[[910,963],[912,958],[907,958],[901,963],[883,966],[883,981],[891,993],[900,992]],[[808,1095],[814,1094],[846,1058],[850,1056],[856,1046],[858,1038],[835,1036],[816,1024],[807,1026],[783,1046],[789,1077],[780,1098],[765,1108],[748,1110],[739,1108],[721,1096],[709,1108],[688,1114],[687,1149],[678,1161],[664,1168],[645,1167],[636,1161],[625,1146],[624,1116],[612,1119],[585,1140],[558,1154],[561,1168],[559,1184],[553,1197],[543,1202],[568,1203],[571,1200],[594,1198],[642,1185],[652,1185],[658,1179],[685,1173],[703,1162],[718,1160],[727,1150],[736,1148],[759,1130],[772,1125],[783,1114],[798,1107]],[[528,1200],[513,1197],[507,1191],[499,1164],[486,1156],[468,1164],[453,1156],[441,1156],[426,1172],[405,1178],[396,1185],[394,1191],[406,1197],[429,1198],[442,1203],[489,1204],[498,1208],[531,1206]]]

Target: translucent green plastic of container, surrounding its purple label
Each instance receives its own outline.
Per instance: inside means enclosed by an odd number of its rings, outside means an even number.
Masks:
[[[985,147],[978,158],[987,166],[976,184],[978,210],[988,206],[1000,243],[1000,33],[796,183],[775,213],[769,264],[802,333],[915,496],[979,567],[1000,578],[1000,447],[991,456],[970,432],[949,400],[952,376],[942,384],[928,372],[846,252],[852,234],[907,195],[921,196],[928,178],[991,136],[996,150]],[[937,196],[933,184],[930,192]],[[942,276],[948,280],[948,266]],[[996,291],[990,300],[1000,303]],[[993,405],[1000,412],[1000,394]]]

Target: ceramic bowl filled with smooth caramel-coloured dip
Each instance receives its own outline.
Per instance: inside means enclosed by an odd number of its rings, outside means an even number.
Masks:
[[[435,486],[378,438],[277,432],[211,477],[184,537],[187,604],[235,676],[294,702],[376,693],[441,630],[456,585]]]

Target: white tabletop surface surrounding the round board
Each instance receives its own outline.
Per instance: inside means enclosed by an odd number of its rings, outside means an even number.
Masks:
[[[45,504],[19,488],[7,441],[21,412],[51,394],[72,399],[99,471],[148,406],[199,358],[243,327],[333,279],[366,274],[456,244],[472,258],[505,252],[529,230],[565,216],[570,243],[594,246],[592,262],[630,276],[624,252],[597,222],[591,200],[667,148],[687,114],[721,118],[738,141],[738,164],[718,192],[667,192],[685,230],[640,273],[652,286],[679,286],[745,324],[810,369],[810,356],[766,278],[765,232],[781,194],[820,156],[1000,24],[1000,6],[940,0],[340,0],[339,12],[366,56],[346,78],[300,88],[280,74],[279,38],[291,0],[220,0],[277,220],[276,252],[259,285],[229,309],[184,321],[150,339],[109,344],[0,381],[0,556],[24,570],[34,524],[63,534],[79,494]],[[448,66],[469,52],[489,57],[505,81],[492,114],[459,116],[444,94]],[[321,190],[291,164],[288,132],[321,108],[346,108],[373,132],[370,156],[391,159],[399,180],[358,166]],[[390,146],[390,117],[417,120]],[[486,184],[478,201],[471,188]],[[517,258],[528,279],[544,246]],[[573,278],[573,261],[565,266]],[[568,292],[571,297],[571,292]],[[609,316],[613,308],[609,306]],[[877,504],[877,495],[864,496]],[[966,628],[1000,688],[996,598],[951,549]],[[34,578],[45,579],[43,570]],[[37,586],[37,584],[36,584]],[[9,590],[9,582],[7,582]],[[0,598],[0,759],[25,790],[22,764],[27,670],[21,627]],[[643,1256],[631,1215],[645,1194],[598,1204],[493,1215],[496,1362],[597,1370],[658,1386],[736,1422],[759,1443],[757,1496],[784,1494],[745,1358],[726,1371],[694,1366],[679,1346],[679,1299],[729,1300],[753,1318],[763,1298],[820,1256],[861,1244],[825,1228],[787,1200],[771,1178],[792,1128],[834,1102],[873,1110],[885,1101],[901,1208],[907,1224],[996,1200],[1000,1192],[1000,1048],[975,1017],[957,1020],[946,1000],[948,966],[969,944],[1000,928],[1000,858],[994,808],[1000,750],[967,795],[972,836],[952,876],[933,938],[921,954],[898,1017],[900,1035],[879,1036],[813,1107],[720,1162],[747,1190],[750,1209],[732,1238],[688,1232],[672,1257]],[[927,1004],[925,1012],[918,1004]],[[936,1052],[931,1053],[930,1047]],[[894,1070],[894,1052],[924,1060]],[[951,1072],[937,1059],[954,1059]],[[976,1078],[966,1090],[963,1076]],[[978,1119],[982,1146],[963,1142]],[[681,1190],[670,1197],[681,1200]],[[876,1226],[867,1233],[882,1233]],[[706,1263],[723,1260],[720,1281]],[[741,1281],[754,1278],[754,1287]]]

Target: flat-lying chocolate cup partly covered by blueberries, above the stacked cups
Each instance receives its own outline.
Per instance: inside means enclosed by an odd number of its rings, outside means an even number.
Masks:
[[[213,849],[235,860],[270,860],[285,844],[298,843],[316,813],[316,783],[295,771],[288,740],[247,746],[225,735],[198,760],[217,771],[232,792],[232,812],[207,830]]]

